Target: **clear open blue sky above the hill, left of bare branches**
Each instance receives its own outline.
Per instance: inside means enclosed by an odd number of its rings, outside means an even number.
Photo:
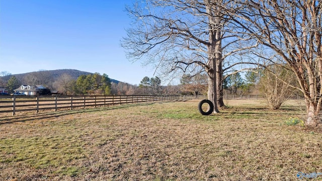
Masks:
[[[131,0],[0,0],[0,71],[77,69],[139,84],[152,66],[130,62],[120,39]]]

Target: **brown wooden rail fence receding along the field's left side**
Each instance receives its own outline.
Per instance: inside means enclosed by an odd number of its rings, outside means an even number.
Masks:
[[[0,97],[0,113],[23,111],[59,110],[86,107],[104,107],[122,104],[136,104],[148,102],[183,101],[191,99],[179,95],[160,96],[2,96]]]

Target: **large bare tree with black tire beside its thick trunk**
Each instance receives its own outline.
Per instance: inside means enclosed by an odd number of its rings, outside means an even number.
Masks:
[[[146,0],[144,3],[137,2],[133,8],[127,8],[134,20],[121,42],[128,49],[128,57],[134,61],[145,57],[147,63],[155,64],[168,75],[186,73],[188,67],[200,66],[197,74],[207,73],[208,99],[214,103],[214,112],[218,112],[217,97],[219,105],[223,105],[223,60],[239,50],[257,46],[255,43],[232,48],[250,39],[237,36],[234,27],[228,26],[230,20],[222,7],[231,1]],[[228,64],[227,70],[239,63]]]

